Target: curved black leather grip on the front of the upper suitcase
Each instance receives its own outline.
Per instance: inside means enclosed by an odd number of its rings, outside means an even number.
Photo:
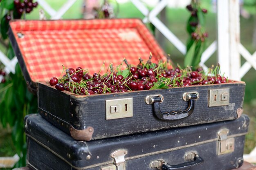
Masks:
[[[154,106],[154,112],[158,119],[161,120],[178,120],[183,119],[185,117],[190,116],[193,113],[194,107],[195,107],[195,99],[198,99],[198,95],[195,93],[191,93],[190,99],[188,100],[189,106],[185,110],[179,110],[179,111],[170,111],[163,113],[160,110],[159,103],[161,102],[161,97],[155,96],[153,97],[153,106]],[[175,115],[175,116],[174,116]]]

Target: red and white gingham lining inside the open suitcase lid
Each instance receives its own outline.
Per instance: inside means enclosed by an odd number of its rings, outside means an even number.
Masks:
[[[114,20],[17,20],[10,23],[33,82],[61,75],[62,65],[81,66],[97,73],[103,62],[117,66],[124,58],[138,64],[139,57],[152,62],[165,54],[146,26],[137,19]],[[18,34],[22,33],[22,38]],[[103,68],[104,69],[104,68]],[[102,73],[102,72],[101,72]]]

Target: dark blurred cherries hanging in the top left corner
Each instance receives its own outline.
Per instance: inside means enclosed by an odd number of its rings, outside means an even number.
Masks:
[[[13,3],[15,7],[13,17],[15,19],[20,19],[23,13],[30,13],[33,8],[38,6],[38,2],[33,2],[33,0],[14,0]],[[7,14],[5,19],[9,22],[11,20],[11,15]]]

